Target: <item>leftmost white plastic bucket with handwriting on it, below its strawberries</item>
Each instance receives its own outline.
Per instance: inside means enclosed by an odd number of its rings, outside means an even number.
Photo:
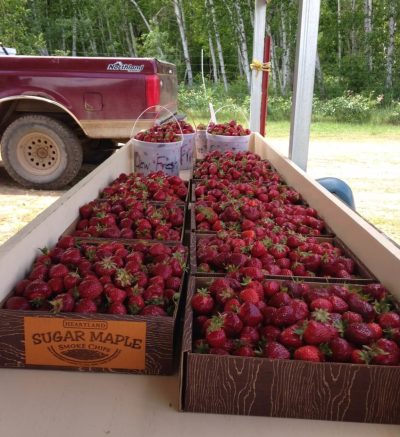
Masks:
[[[163,171],[167,175],[179,176],[182,141],[150,143],[132,138],[130,143],[137,173],[147,175]]]

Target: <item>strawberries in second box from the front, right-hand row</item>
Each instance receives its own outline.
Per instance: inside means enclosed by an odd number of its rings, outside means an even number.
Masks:
[[[197,236],[197,271],[226,273],[239,280],[265,275],[352,279],[357,273],[354,260],[331,241],[265,228],[256,235],[243,234]]]

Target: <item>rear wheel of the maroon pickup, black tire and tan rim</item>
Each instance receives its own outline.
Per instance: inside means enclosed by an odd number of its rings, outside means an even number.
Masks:
[[[44,115],[24,115],[11,123],[1,138],[1,156],[19,184],[57,190],[78,174],[82,147],[65,124]]]

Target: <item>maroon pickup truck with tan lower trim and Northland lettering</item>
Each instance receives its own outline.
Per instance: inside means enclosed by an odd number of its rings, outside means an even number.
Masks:
[[[140,114],[151,106],[157,108]],[[151,58],[0,57],[4,167],[24,186],[58,189],[84,160],[177,111],[173,64]]]

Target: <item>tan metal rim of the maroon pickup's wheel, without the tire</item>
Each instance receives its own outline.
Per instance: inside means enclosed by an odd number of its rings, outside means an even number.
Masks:
[[[17,158],[24,170],[37,175],[49,175],[60,165],[61,153],[48,135],[35,132],[24,135],[17,144]]]

